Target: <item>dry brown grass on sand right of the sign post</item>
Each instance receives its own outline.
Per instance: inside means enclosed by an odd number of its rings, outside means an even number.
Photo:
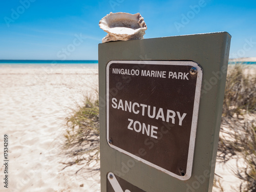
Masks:
[[[240,191],[256,191],[256,77],[246,75],[244,66],[229,68],[226,80],[218,159],[243,158],[237,177]],[[251,118],[254,117],[254,118]]]

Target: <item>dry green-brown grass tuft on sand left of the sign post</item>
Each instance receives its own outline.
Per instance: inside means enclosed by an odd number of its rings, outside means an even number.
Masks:
[[[68,163],[62,162],[66,165],[64,168],[74,164],[90,165],[99,161],[99,100],[86,97],[83,104],[66,121],[64,148],[72,160]]]

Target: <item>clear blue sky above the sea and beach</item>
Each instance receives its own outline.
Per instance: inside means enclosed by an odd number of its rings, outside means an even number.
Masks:
[[[230,58],[256,57],[255,0],[12,0],[1,1],[0,59],[97,60],[110,12],[139,12],[144,38],[227,31]]]

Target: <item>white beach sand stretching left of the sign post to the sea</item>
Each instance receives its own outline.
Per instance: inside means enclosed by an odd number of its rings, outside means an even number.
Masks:
[[[97,81],[97,67],[0,66],[0,143],[4,134],[9,136],[9,186],[4,191],[100,191],[99,172],[74,175],[79,167],[61,170],[60,163],[67,160],[60,152],[69,109],[83,94],[93,93],[90,87]],[[4,178],[4,165],[0,168]]]

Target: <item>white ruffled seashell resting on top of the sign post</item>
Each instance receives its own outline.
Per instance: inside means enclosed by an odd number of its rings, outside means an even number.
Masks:
[[[99,27],[108,33],[102,42],[115,40],[143,39],[147,29],[140,13],[112,13],[104,16]]]

